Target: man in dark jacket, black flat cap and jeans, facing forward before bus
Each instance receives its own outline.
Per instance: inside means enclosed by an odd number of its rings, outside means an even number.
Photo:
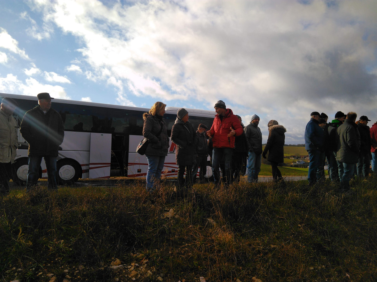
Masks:
[[[57,162],[58,149],[64,138],[64,124],[60,114],[51,108],[49,93],[37,95],[38,106],[24,115],[20,132],[29,143],[29,170],[26,190],[37,184],[42,157],[46,163],[48,188],[57,189]]]

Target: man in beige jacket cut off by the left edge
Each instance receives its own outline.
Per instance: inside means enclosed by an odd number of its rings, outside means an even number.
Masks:
[[[12,114],[17,107],[15,100],[5,97],[0,105],[0,194],[9,193],[12,164],[18,147],[17,121]]]

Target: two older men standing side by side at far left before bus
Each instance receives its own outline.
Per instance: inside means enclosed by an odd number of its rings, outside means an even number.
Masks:
[[[60,114],[51,108],[49,93],[37,95],[38,106],[27,111],[21,121],[20,133],[29,143],[28,178],[26,189],[33,188],[39,178],[39,167],[44,157],[48,188],[57,189],[57,156],[64,138],[64,124]],[[18,148],[18,124],[12,117],[18,105],[5,97],[0,106],[0,193],[9,193],[9,180],[14,177],[12,164]]]

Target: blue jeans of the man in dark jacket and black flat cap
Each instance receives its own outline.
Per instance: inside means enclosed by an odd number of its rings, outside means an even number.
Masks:
[[[26,189],[31,188],[37,184],[39,178],[39,167],[41,165],[42,156],[29,156],[28,160],[28,180],[26,181]],[[55,156],[44,156],[44,163],[47,169],[47,188],[57,189],[58,184],[57,178],[57,168],[56,168],[56,157]]]

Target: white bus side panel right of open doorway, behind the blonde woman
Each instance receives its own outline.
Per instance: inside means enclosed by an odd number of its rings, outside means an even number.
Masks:
[[[130,135],[128,154],[128,177],[146,177],[148,170],[147,157],[135,153],[143,136]],[[175,144],[169,141],[168,154],[165,157],[162,174],[166,177],[177,177],[178,165],[175,163]]]

